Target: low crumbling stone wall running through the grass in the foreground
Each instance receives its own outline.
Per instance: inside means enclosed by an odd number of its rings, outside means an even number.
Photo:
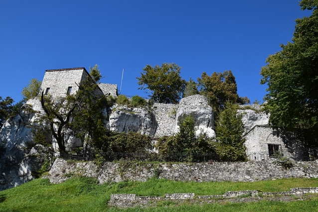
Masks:
[[[175,204],[212,204],[216,202],[259,202],[259,201],[283,201],[290,202],[296,200],[306,200],[310,194],[317,194],[318,187],[292,188],[289,192],[259,192],[256,190],[226,192],[223,195],[202,195],[196,196],[194,193],[174,193],[160,196],[142,197],[136,194],[113,194],[108,203],[111,207],[133,208],[133,207],[156,207],[162,205],[163,201]],[[275,198],[273,198],[275,197]],[[310,199],[310,198],[309,198]]]

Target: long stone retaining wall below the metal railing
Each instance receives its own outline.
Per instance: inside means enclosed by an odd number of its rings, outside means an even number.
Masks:
[[[67,162],[57,158],[49,171],[52,183],[64,182],[69,176],[94,177],[100,183],[124,180],[146,181],[159,173],[159,178],[175,181],[232,181],[255,182],[282,178],[318,178],[318,161],[293,161],[285,169],[275,161],[208,162],[208,163],[114,163],[99,168],[93,162]]]

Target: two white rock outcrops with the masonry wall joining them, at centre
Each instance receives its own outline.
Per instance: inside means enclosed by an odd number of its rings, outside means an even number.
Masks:
[[[114,106],[109,125],[113,131],[170,136],[178,131],[180,121],[187,115],[194,118],[197,134],[204,132],[210,137],[215,136],[213,109],[201,95],[183,98],[179,105],[156,103],[152,109]]]

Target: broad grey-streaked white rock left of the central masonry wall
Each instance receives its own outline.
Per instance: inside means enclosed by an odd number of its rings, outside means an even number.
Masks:
[[[113,106],[109,117],[112,131],[139,132],[153,136],[156,133],[156,116],[147,108],[129,108],[127,106]]]

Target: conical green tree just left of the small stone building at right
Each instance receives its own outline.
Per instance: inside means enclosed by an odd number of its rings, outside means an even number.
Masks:
[[[238,106],[230,102],[225,103],[224,107],[215,128],[216,139],[219,141],[217,154],[223,161],[245,161],[243,114],[237,114]]]

